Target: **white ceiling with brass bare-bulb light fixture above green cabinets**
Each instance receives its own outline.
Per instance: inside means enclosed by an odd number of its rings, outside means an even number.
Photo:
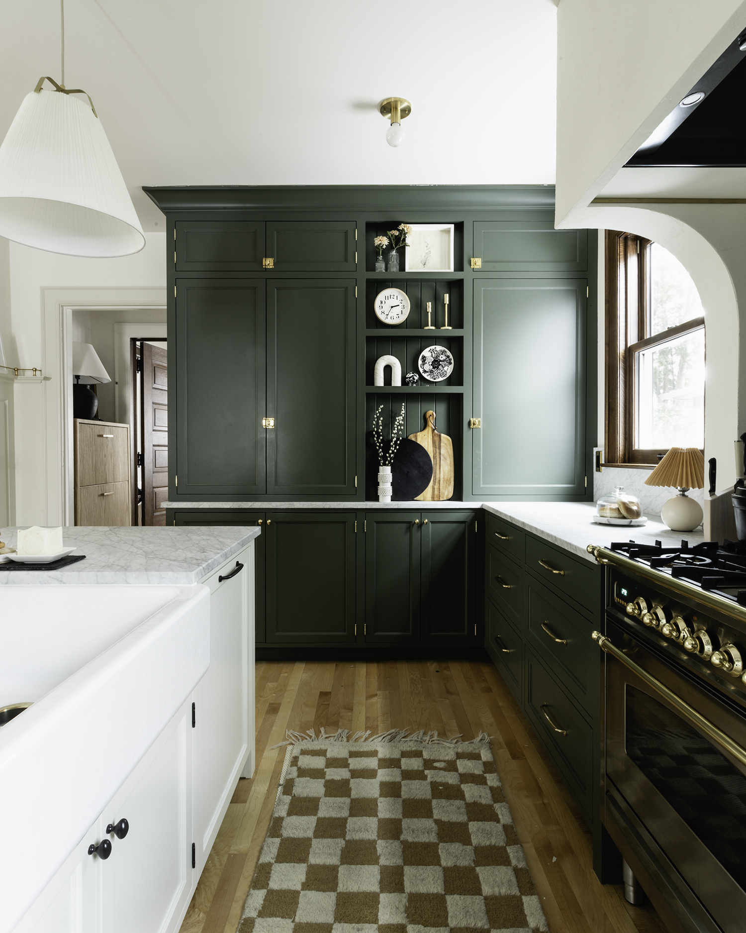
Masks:
[[[553,184],[556,41],[553,0],[65,0],[65,84],[159,230],[142,185]],[[59,0],[0,0],[0,138],[42,75]]]

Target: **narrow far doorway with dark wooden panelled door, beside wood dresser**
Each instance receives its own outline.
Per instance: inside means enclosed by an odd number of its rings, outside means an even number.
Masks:
[[[165,525],[169,422],[167,343],[132,338],[132,524]]]

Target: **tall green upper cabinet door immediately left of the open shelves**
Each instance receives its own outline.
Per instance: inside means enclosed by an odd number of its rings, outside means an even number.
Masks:
[[[355,283],[268,281],[267,493],[355,494]]]

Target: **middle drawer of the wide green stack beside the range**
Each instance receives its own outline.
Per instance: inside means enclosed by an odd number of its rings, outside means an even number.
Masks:
[[[592,713],[599,705],[594,689],[599,651],[590,637],[593,623],[539,584],[530,583],[528,591],[527,641],[563,686]]]

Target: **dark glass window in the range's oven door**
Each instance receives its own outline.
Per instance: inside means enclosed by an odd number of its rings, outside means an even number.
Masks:
[[[746,890],[746,777],[668,707],[626,692],[629,758]]]

